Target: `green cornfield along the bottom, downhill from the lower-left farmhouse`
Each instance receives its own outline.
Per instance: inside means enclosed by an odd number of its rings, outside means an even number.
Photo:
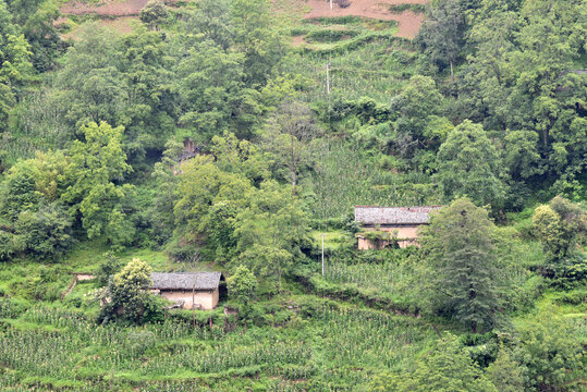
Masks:
[[[236,391],[253,376],[270,391],[357,390],[411,360],[426,338],[416,319],[329,308],[302,338],[288,328],[225,332],[169,320],[96,326],[44,306],[12,320],[21,327],[0,332],[2,391]]]

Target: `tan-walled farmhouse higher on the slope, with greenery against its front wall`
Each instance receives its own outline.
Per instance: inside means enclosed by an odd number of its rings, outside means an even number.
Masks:
[[[440,207],[356,206],[355,221],[363,228],[363,232],[357,235],[358,248],[381,249],[393,243],[400,247],[417,246],[419,226],[428,224],[430,212]]]

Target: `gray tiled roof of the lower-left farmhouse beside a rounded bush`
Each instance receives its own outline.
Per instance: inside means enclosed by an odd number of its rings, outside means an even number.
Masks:
[[[151,289],[159,290],[216,290],[220,272],[154,272]]]

